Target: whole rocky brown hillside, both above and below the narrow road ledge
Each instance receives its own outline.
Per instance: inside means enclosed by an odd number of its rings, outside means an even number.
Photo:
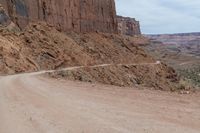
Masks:
[[[43,22],[33,23],[22,32],[3,28],[0,32],[0,72],[14,74],[112,64],[110,67],[71,71],[69,75],[57,73],[53,77],[61,74],[63,78],[119,86],[176,89],[178,78],[175,71],[164,64],[156,64],[156,60],[140,49],[138,45],[142,40],[142,37],[139,41],[139,37],[105,33],[62,33]]]

